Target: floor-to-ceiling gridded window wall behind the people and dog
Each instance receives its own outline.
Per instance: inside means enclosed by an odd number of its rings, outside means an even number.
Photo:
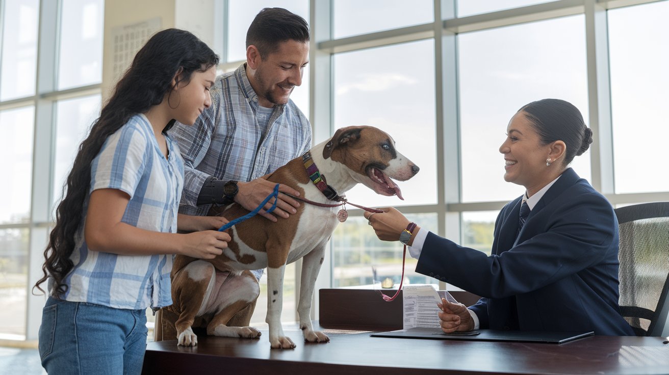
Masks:
[[[353,203],[398,207],[488,253],[499,209],[523,190],[504,182],[499,146],[514,112],[541,98],[572,102],[595,130],[571,166],[611,203],[669,200],[669,0],[210,1],[223,5],[221,70],[246,59],[246,31],[260,9],[289,9],[312,29],[312,61],[292,100],[310,118],[314,142],[343,126],[377,126],[421,168],[397,182],[404,201],[357,186],[347,193]],[[37,336],[31,316],[43,301],[30,304],[30,273],[39,271],[32,263],[100,110],[103,11],[103,0],[0,0],[0,163],[9,181],[0,184],[9,197],[0,203],[3,338]],[[371,287],[385,277],[397,285],[401,245],[379,241],[361,210],[349,214],[316,289]],[[436,282],[417,275],[412,259],[405,269],[405,282]],[[296,318],[298,275],[286,267],[285,321]],[[263,289],[252,322],[264,322],[266,305]]]

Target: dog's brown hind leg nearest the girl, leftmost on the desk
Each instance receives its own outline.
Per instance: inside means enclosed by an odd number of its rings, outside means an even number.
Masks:
[[[195,317],[205,312],[209,295],[215,283],[215,269],[207,261],[193,261],[179,270],[172,279],[173,310],[179,314],[175,322],[179,345],[197,345],[193,333]]]

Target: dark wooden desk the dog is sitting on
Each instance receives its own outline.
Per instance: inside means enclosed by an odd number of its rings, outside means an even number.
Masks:
[[[327,344],[305,344],[284,327],[294,350],[259,340],[200,337],[195,348],[151,342],[142,374],[667,374],[663,338],[591,336],[565,344],[372,338],[326,330]]]

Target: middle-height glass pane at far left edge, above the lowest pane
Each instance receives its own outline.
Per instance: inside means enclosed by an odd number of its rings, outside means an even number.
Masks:
[[[3,178],[11,181],[0,184],[0,197],[11,198],[0,199],[0,224],[29,221],[34,122],[33,106],[0,111],[0,160]]]

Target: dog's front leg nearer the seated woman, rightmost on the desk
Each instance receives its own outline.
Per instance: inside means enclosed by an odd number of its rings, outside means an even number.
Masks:
[[[320,271],[320,265],[323,263],[325,254],[324,243],[318,244],[307,255],[302,258],[302,277],[300,278],[300,301],[297,312],[300,315],[300,330],[304,336],[305,342],[329,342],[330,338],[320,331],[314,331],[311,324],[311,301],[314,297],[314,287],[316,277]]]

